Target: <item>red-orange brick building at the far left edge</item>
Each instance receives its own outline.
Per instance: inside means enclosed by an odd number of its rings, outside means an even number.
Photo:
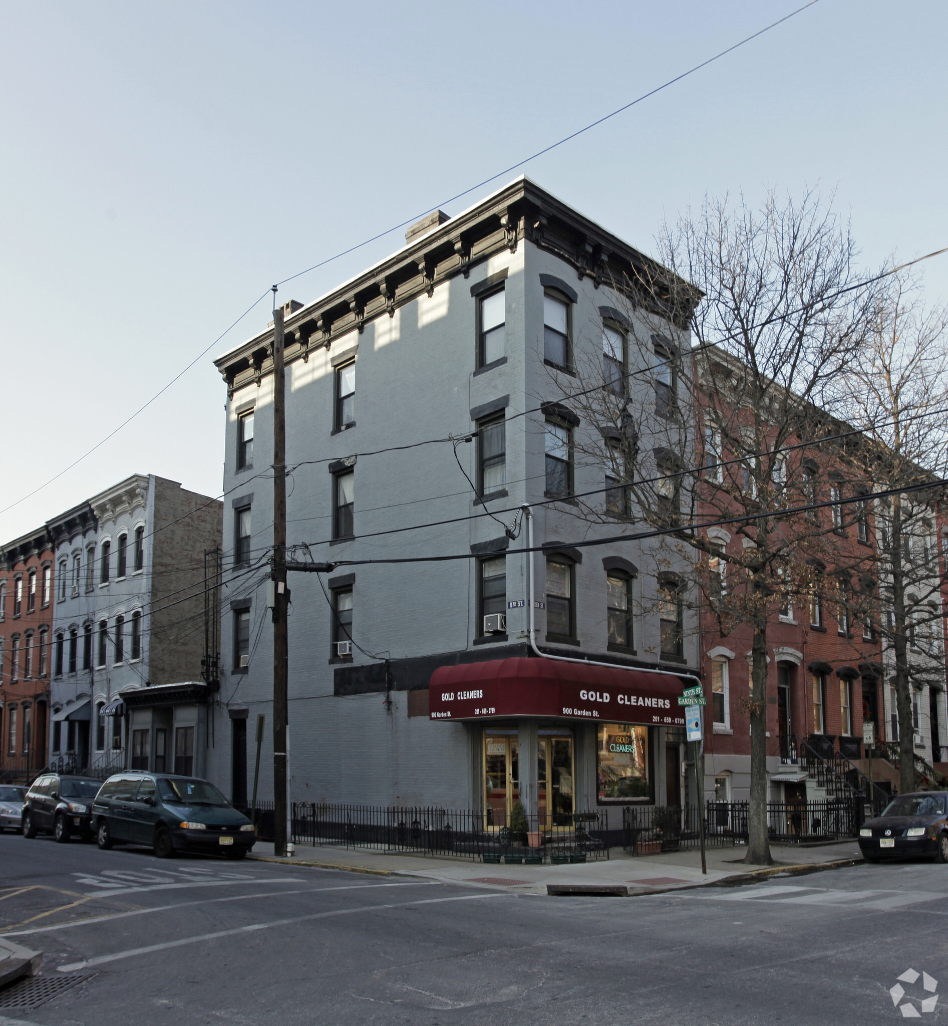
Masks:
[[[45,527],[0,548],[0,780],[47,762],[53,554]]]

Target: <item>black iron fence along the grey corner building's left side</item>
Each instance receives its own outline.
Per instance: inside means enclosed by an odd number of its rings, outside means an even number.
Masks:
[[[240,807],[251,814],[249,806]],[[273,802],[259,801],[254,815],[260,838],[272,840]],[[608,859],[609,844],[621,843],[620,831],[610,833],[600,813],[517,814],[507,820],[496,812],[315,802],[293,802],[291,833],[294,844],[455,856],[507,865]]]

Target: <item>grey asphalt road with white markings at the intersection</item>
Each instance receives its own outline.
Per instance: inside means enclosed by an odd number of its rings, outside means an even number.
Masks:
[[[909,1001],[948,1021],[932,864],[547,898],[6,834],[0,933],[44,952],[40,980],[78,981],[34,1011],[0,994],[0,1026],[866,1026]]]

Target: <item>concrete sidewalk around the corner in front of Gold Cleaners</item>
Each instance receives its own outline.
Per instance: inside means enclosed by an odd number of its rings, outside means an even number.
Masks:
[[[744,846],[740,844],[734,847],[708,849],[706,876],[701,872],[701,852],[667,852],[636,858],[627,855],[621,847],[611,849],[608,860],[568,866],[496,866],[469,859],[330,845],[310,847],[304,844],[297,845],[295,855],[291,859],[274,859],[273,844],[264,841],[256,842],[249,858],[383,876],[419,876],[446,883],[466,883],[470,886],[526,894],[547,894],[548,885],[552,885],[556,889],[608,886],[618,894],[626,889],[630,895],[657,894],[724,880],[728,883],[749,883],[764,876],[806,872],[811,868],[829,869],[862,862],[856,840],[819,847],[775,844],[771,852],[777,865],[765,868],[745,864],[744,852]]]

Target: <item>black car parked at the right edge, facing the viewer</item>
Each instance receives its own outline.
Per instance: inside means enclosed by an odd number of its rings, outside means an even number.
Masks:
[[[867,862],[912,857],[948,862],[948,793],[897,795],[881,816],[863,824],[859,846]]]

